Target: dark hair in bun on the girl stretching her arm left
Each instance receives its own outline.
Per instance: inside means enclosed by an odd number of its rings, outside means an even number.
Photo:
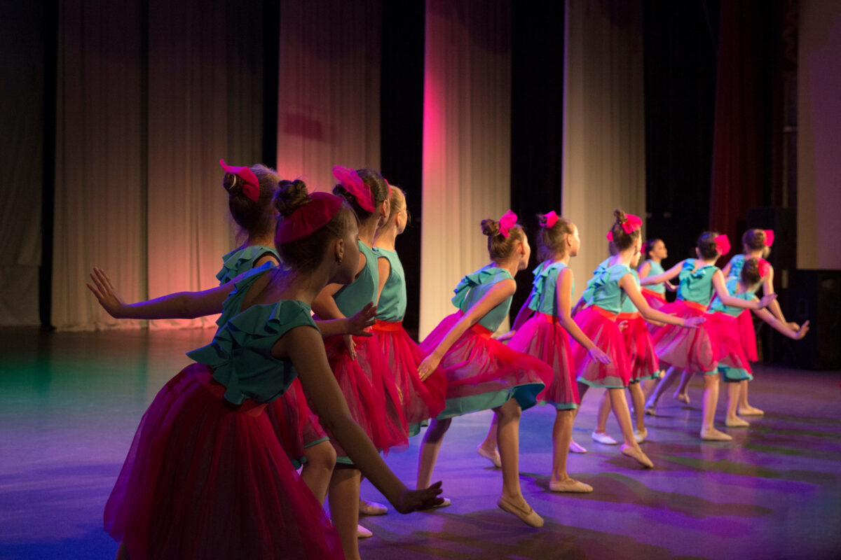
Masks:
[[[234,218],[236,225],[243,233],[254,237],[272,232],[275,222],[272,196],[278,187],[280,175],[276,170],[262,164],[252,165],[249,169],[257,175],[257,181],[260,183],[260,195],[257,196],[257,201],[252,201],[242,192],[245,181],[233,173],[225,173],[222,186],[225,187],[225,191],[228,191],[230,216]]]

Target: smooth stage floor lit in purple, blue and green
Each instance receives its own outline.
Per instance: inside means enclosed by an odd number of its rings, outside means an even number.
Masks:
[[[0,331],[0,558],[113,558],[102,512],[145,407],[188,364],[208,330],[45,334]],[[590,495],[547,490],[554,411],[521,423],[521,483],[546,520],[531,529],[496,507],[499,470],[475,452],[490,421],[452,423],[434,479],[452,506],[362,519],[362,557],[838,558],[841,557],[841,374],[759,367],[751,402],[766,411],[733,442],[701,442],[701,380],[689,406],[664,396],[648,417],[637,468],[590,440],[600,390],[590,390],[569,472]],[[717,419],[723,425],[725,397]],[[619,437],[616,422],[608,432]],[[420,437],[386,458],[414,484]],[[383,501],[366,483],[363,495]]]

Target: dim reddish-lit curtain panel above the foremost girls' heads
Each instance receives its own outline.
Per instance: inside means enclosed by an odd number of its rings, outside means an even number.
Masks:
[[[334,165],[379,169],[379,0],[280,6],[278,171],[330,191]]]

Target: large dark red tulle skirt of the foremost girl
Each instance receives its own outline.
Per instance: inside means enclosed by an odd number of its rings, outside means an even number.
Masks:
[[[105,505],[132,560],[341,558],[338,535],[263,413],[192,364],[152,401]]]

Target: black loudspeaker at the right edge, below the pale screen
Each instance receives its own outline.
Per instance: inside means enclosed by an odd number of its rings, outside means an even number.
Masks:
[[[808,320],[810,330],[789,341],[786,361],[801,369],[841,369],[841,270],[797,270],[793,280],[790,320]]]

